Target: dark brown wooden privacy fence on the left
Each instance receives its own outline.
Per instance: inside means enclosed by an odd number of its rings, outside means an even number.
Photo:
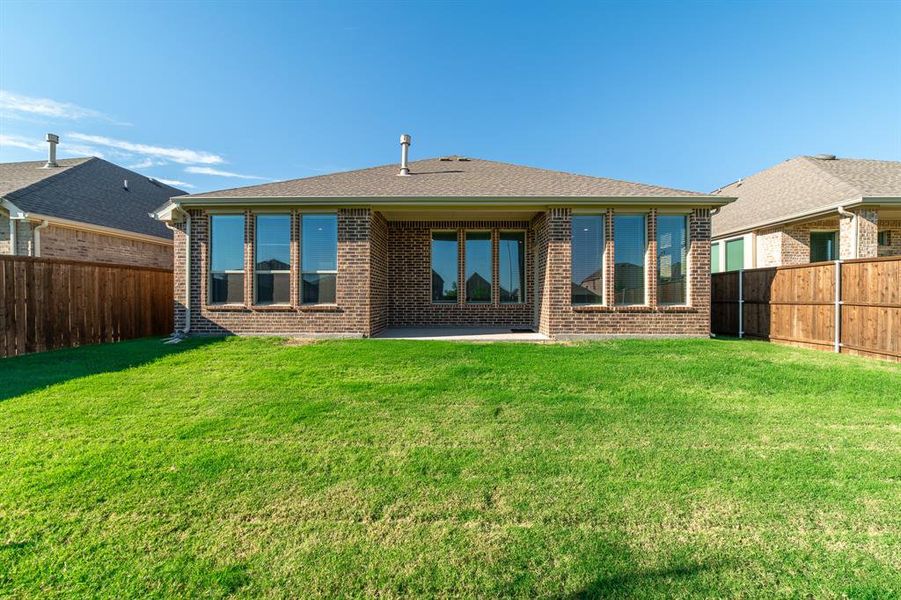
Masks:
[[[165,335],[172,271],[0,256],[0,356]]]

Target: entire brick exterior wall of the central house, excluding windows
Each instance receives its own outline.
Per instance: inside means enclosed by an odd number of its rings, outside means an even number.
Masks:
[[[338,283],[334,305],[299,303],[300,216],[286,209],[291,219],[290,305],[253,305],[254,213],[243,211],[244,302],[217,306],[207,302],[209,280],[209,222],[211,212],[192,209],[190,268],[190,331],[192,334],[336,335],[368,337],[386,327],[427,326],[532,326],[554,337],[606,335],[706,336],[710,320],[710,211],[689,215],[688,302],[685,306],[658,306],[656,298],[656,217],[648,212],[646,306],[571,305],[571,215],[554,208],[527,221],[391,221],[368,208],[338,209]],[[630,211],[634,212],[634,211]],[[608,298],[613,297],[615,211],[606,210],[604,275]],[[176,225],[175,322],[184,329],[185,228]],[[457,231],[460,281],[464,280],[466,230],[491,230],[493,254],[497,232],[526,232],[525,301],[500,303],[498,265],[493,266],[492,302],[467,304],[461,294],[456,303],[431,301],[431,232]],[[537,306],[536,306],[537,299]]]

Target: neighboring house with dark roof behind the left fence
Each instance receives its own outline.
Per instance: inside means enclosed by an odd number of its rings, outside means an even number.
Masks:
[[[54,159],[0,164],[0,254],[172,268],[172,232],[148,212],[185,192],[99,158]]]

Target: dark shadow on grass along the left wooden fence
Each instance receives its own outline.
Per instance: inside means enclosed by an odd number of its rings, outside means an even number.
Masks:
[[[70,379],[152,363],[221,339],[193,338],[164,344],[162,338],[142,338],[3,358],[0,359],[0,402]]]

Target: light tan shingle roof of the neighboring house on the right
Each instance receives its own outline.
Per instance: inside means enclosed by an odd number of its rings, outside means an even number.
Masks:
[[[714,237],[861,197],[901,197],[901,162],[799,156],[715,193],[738,200],[713,217]]]

